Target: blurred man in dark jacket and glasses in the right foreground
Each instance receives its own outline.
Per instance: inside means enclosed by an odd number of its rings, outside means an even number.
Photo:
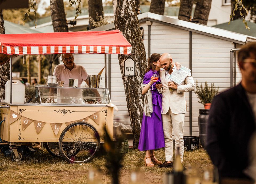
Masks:
[[[207,151],[217,166],[220,181],[240,178],[250,181],[256,173],[250,144],[256,122],[256,43],[243,46],[238,53],[242,81],[217,95],[207,125]],[[254,149],[255,151],[255,149]],[[251,156],[249,156],[251,155]],[[255,162],[254,162],[255,163]]]

